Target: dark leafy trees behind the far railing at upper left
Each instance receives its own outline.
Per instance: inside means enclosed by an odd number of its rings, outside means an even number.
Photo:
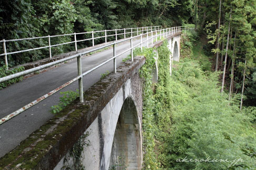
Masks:
[[[18,39],[85,31],[145,27],[162,25],[170,27],[188,23],[191,17],[193,1],[174,0],[15,0],[0,2],[0,38]],[[175,16],[175,17],[173,17]],[[114,31],[108,31],[107,35]],[[117,31],[118,34],[123,33]],[[104,32],[94,37],[104,36]],[[129,35],[127,35],[129,36]],[[91,38],[91,34],[76,35],[77,40]],[[118,38],[123,38],[119,35]],[[115,37],[107,37],[107,41]],[[74,41],[74,36],[52,37],[51,44]],[[95,39],[95,44],[104,42],[104,38]],[[48,39],[22,40],[7,42],[7,51],[18,51],[48,45]],[[92,46],[92,40],[77,43],[78,49]],[[74,50],[74,44],[52,47],[52,55]],[[3,52],[3,47],[0,46]],[[48,49],[23,52],[8,56],[9,66],[43,59],[49,56]],[[1,65],[3,57],[0,58]]]

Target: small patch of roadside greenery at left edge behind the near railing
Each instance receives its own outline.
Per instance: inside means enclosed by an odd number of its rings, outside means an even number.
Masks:
[[[24,67],[18,67],[18,68],[6,70],[6,67],[3,66],[3,67],[0,67],[0,78],[8,75],[13,75],[14,73],[21,72],[21,71],[24,71]],[[9,84],[16,83],[18,81],[21,81],[22,79],[23,79],[23,76],[0,83],[0,89],[6,88]]]

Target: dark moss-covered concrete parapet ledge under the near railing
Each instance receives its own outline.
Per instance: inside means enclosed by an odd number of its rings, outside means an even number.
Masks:
[[[127,79],[144,64],[143,56],[126,61],[84,92],[84,103],[73,101],[14,150],[0,158],[0,169],[53,169],[75,144]]]

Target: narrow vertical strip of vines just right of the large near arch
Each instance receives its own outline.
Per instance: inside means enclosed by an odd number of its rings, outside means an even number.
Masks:
[[[157,169],[156,153],[154,152],[154,112],[155,105],[152,90],[152,70],[155,67],[156,56],[154,49],[140,48],[134,50],[134,56],[141,55],[146,57],[145,64],[140,69],[140,76],[144,79],[143,88],[143,146],[144,146],[144,169]]]

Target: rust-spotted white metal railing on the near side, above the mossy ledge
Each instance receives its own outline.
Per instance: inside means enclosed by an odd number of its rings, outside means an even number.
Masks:
[[[146,28],[146,27],[144,27]],[[133,29],[133,28],[132,28]],[[124,29],[125,30],[125,29]],[[127,29],[126,29],[127,30]],[[51,92],[48,92],[47,94],[43,95],[41,98],[38,98],[36,100],[34,100],[33,102],[25,105],[24,107],[16,110],[15,112],[5,116],[4,118],[2,118],[0,120],[0,125],[12,118],[14,118],[14,116],[24,112],[25,110],[27,110],[28,108],[31,108],[33,105],[41,102],[42,100],[50,97],[52,94],[56,93],[57,91],[65,88],[66,86],[70,85],[71,83],[73,83],[74,81],[78,80],[78,87],[79,87],[79,95],[80,95],[80,102],[84,102],[83,100],[83,76],[87,75],[88,73],[92,72],[93,70],[103,66],[105,63],[113,60],[114,61],[114,73],[116,73],[116,58],[121,56],[122,54],[124,54],[125,52],[127,51],[131,51],[131,60],[133,61],[133,48],[137,47],[137,46],[140,46],[141,50],[142,50],[142,44],[144,42],[147,42],[147,47],[149,47],[149,42],[150,42],[150,39],[151,39],[151,43],[153,44],[153,40],[155,38],[155,41],[157,41],[157,38],[160,38],[162,39],[167,37],[168,35],[173,35],[175,33],[179,33],[180,31],[182,30],[185,30],[186,31],[186,27],[185,26],[179,26],[179,27],[171,27],[171,28],[164,28],[164,29],[154,29],[154,30],[147,30],[146,33],[144,34],[140,34],[140,35],[136,35],[136,36],[132,36],[130,38],[125,38],[123,40],[119,40],[119,41],[115,41],[115,42],[112,42],[111,44],[107,44],[107,45],[104,45],[104,46],[101,46],[101,47],[97,47],[95,49],[92,49],[92,50],[88,50],[88,51],[85,51],[85,52],[81,52],[79,54],[76,54],[76,55],[73,55],[73,56],[70,56],[70,57],[66,57],[64,59],[61,59],[61,60],[57,60],[57,61],[53,61],[53,62],[50,62],[50,63],[47,63],[45,65],[42,65],[42,66],[38,66],[38,67],[35,67],[35,68],[32,68],[32,69],[28,69],[28,70],[25,70],[25,71],[22,71],[22,72],[18,72],[18,73],[15,73],[13,75],[9,75],[9,76],[6,76],[6,77],[3,77],[3,78],[0,78],[0,83],[2,82],[5,82],[5,81],[8,81],[8,80],[11,80],[11,79],[14,79],[14,78],[17,78],[17,77],[20,77],[20,76],[24,76],[24,75],[27,75],[28,73],[32,73],[32,72],[35,72],[35,71],[38,71],[38,70],[41,70],[41,69],[44,69],[44,68],[47,68],[47,67],[50,67],[50,66],[53,66],[53,65],[56,65],[57,63],[61,63],[61,62],[64,62],[64,61],[67,61],[67,60],[70,60],[70,59],[73,59],[73,58],[77,58],[77,72],[78,72],[78,76],[75,77],[74,79],[66,82],[65,84],[63,84],[62,86],[52,90]],[[132,30],[131,30],[131,33]],[[139,33],[139,30],[137,29],[137,33]],[[81,33],[82,34],[82,33]],[[129,34],[129,33],[125,33],[125,34]],[[146,40],[142,41],[142,36],[146,36]],[[150,36],[150,38],[149,38]],[[133,46],[133,39],[134,38],[140,38],[140,43]],[[117,38],[116,38],[117,39]],[[123,41],[127,41],[127,40],[130,40],[130,44],[131,44],[131,48],[127,49],[127,50],[124,50],[122,51],[120,54],[116,54],[116,44],[119,44]],[[73,41],[72,41],[73,42]],[[71,42],[69,42],[71,43]],[[109,46],[113,46],[113,57],[100,63],[98,66],[82,73],[82,65],[81,65],[81,56],[82,55],[85,55],[85,54],[88,54],[90,52],[93,52],[93,51],[96,51],[96,50],[99,50],[99,49],[103,49],[105,47],[109,47]],[[51,47],[51,46],[48,46],[48,47]],[[51,51],[51,50],[50,50]]]

